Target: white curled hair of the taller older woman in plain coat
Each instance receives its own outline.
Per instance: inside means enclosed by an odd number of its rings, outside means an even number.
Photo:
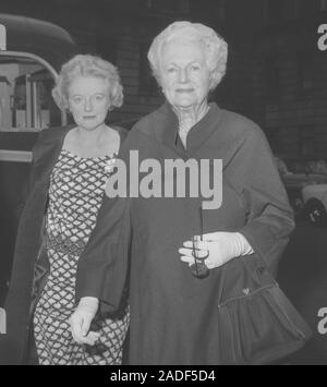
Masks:
[[[158,84],[161,84],[160,63],[162,47],[174,38],[185,41],[199,41],[204,46],[211,76],[210,89],[214,89],[226,74],[228,45],[213,28],[191,22],[174,22],[170,24],[152,43],[147,58]]]

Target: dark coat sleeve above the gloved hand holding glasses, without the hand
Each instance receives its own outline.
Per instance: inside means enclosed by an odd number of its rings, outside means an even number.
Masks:
[[[250,133],[237,157],[247,203],[247,221],[239,231],[275,273],[294,228],[293,210],[259,129]]]

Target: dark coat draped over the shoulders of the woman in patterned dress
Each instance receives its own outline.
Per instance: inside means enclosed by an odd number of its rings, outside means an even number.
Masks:
[[[3,363],[24,364],[28,361],[32,312],[49,268],[43,237],[50,174],[70,129],[72,126],[41,131],[33,149],[29,195],[20,219],[4,305],[8,332],[0,336],[0,362]],[[128,132],[122,128],[114,129],[122,143]]]

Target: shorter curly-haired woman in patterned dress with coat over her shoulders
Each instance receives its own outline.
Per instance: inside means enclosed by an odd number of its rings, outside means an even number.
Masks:
[[[5,305],[15,351],[8,361],[27,362],[35,341],[40,364],[120,364],[129,327],[124,309],[95,318],[87,343],[100,336],[96,348],[75,343],[69,325],[77,262],[95,227],[108,164],[126,135],[105,123],[108,111],[122,105],[120,77],[111,63],[78,55],[63,64],[52,95],[75,124],[43,131],[34,147]]]

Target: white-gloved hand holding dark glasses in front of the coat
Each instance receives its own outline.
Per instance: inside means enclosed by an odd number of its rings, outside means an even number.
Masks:
[[[204,258],[204,263],[209,269],[219,267],[232,258],[240,255],[253,253],[253,249],[240,232],[209,232],[198,235],[193,241],[185,241],[183,247],[179,249],[181,261],[189,263],[191,266],[194,263],[193,247],[196,249],[196,257]]]

